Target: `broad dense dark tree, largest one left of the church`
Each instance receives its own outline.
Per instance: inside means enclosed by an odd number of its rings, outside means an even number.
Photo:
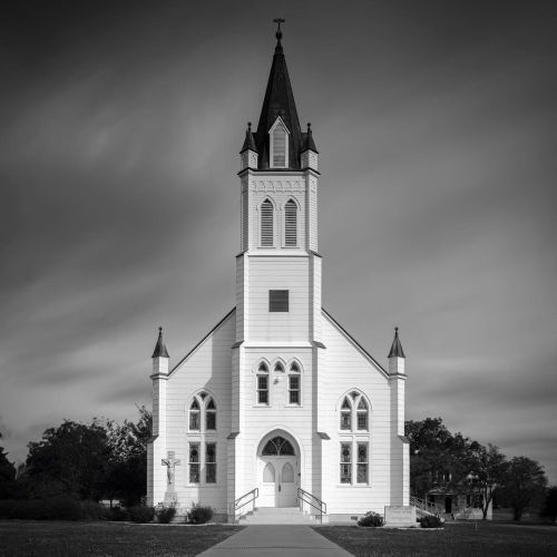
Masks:
[[[102,496],[109,447],[106,429],[97,421],[63,421],[30,442],[26,477],[36,497],[71,496],[98,500]]]

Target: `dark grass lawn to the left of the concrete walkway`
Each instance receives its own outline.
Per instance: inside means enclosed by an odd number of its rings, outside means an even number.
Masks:
[[[0,521],[0,556],[193,556],[241,529],[222,525],[3,520]]]

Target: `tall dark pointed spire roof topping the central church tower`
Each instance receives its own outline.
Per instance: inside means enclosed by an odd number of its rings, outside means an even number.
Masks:
[[[280,116],[289,128],[289,168],[300,169],[300,154],[303,150],[302,129],[297,119],[296,104],[290,85],[289,70],[282,49],[282,32],[276,31],[276,47],[268,75],[267,88],[261,109],[255,144],[260,154],[260,169],[270,168],[268,130]]]

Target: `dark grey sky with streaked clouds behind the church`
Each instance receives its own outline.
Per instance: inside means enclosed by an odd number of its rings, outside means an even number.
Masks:
[[[234,305],[238,155],[284,17],[320,150],[323,304],[407,416],[557,482],[553,1],[8,1],[0,18],[0,428],[135,418]],[[342,372],[342,370],[339,370]]]

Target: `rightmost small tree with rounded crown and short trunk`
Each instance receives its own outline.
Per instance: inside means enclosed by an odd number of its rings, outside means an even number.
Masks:
[[[543,498],[546,485],[546,473],[539,462],[527,457],[510,459],[502,491],[515,520],[520,520],[524,510]]]

